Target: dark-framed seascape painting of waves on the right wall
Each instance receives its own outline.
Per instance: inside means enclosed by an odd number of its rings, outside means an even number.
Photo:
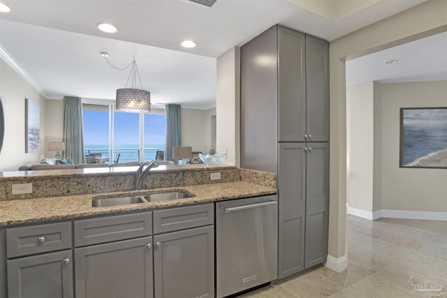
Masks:
[[[447,107],[400,109],[400,167],[447,169]]]

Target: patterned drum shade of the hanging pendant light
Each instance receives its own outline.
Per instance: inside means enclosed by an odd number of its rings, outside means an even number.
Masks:
[[[151,93],[142,89],[117,89],[117,110],[123,112],[149,112],[151,110]]]

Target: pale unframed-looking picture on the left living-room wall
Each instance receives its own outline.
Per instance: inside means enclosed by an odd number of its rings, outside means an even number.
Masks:
[[[39,128],[41,107],[33,100],[25,98],[25,153],[39,151]]]

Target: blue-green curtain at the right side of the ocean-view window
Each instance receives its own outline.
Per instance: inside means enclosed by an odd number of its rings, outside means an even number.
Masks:
[[[182,144],[182,118],[180,105],[166,105],[165,161],[173,160],[173,147]],[[174,161],[178,164],[178,161]]]

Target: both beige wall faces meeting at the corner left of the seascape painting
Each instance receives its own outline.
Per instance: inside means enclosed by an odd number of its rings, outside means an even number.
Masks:
[[[400,108],[447,107],[447,82],[358,84],[347,88],[346,106],[349,207],[446,212],[447,172],[402,168],[399,158]]]

